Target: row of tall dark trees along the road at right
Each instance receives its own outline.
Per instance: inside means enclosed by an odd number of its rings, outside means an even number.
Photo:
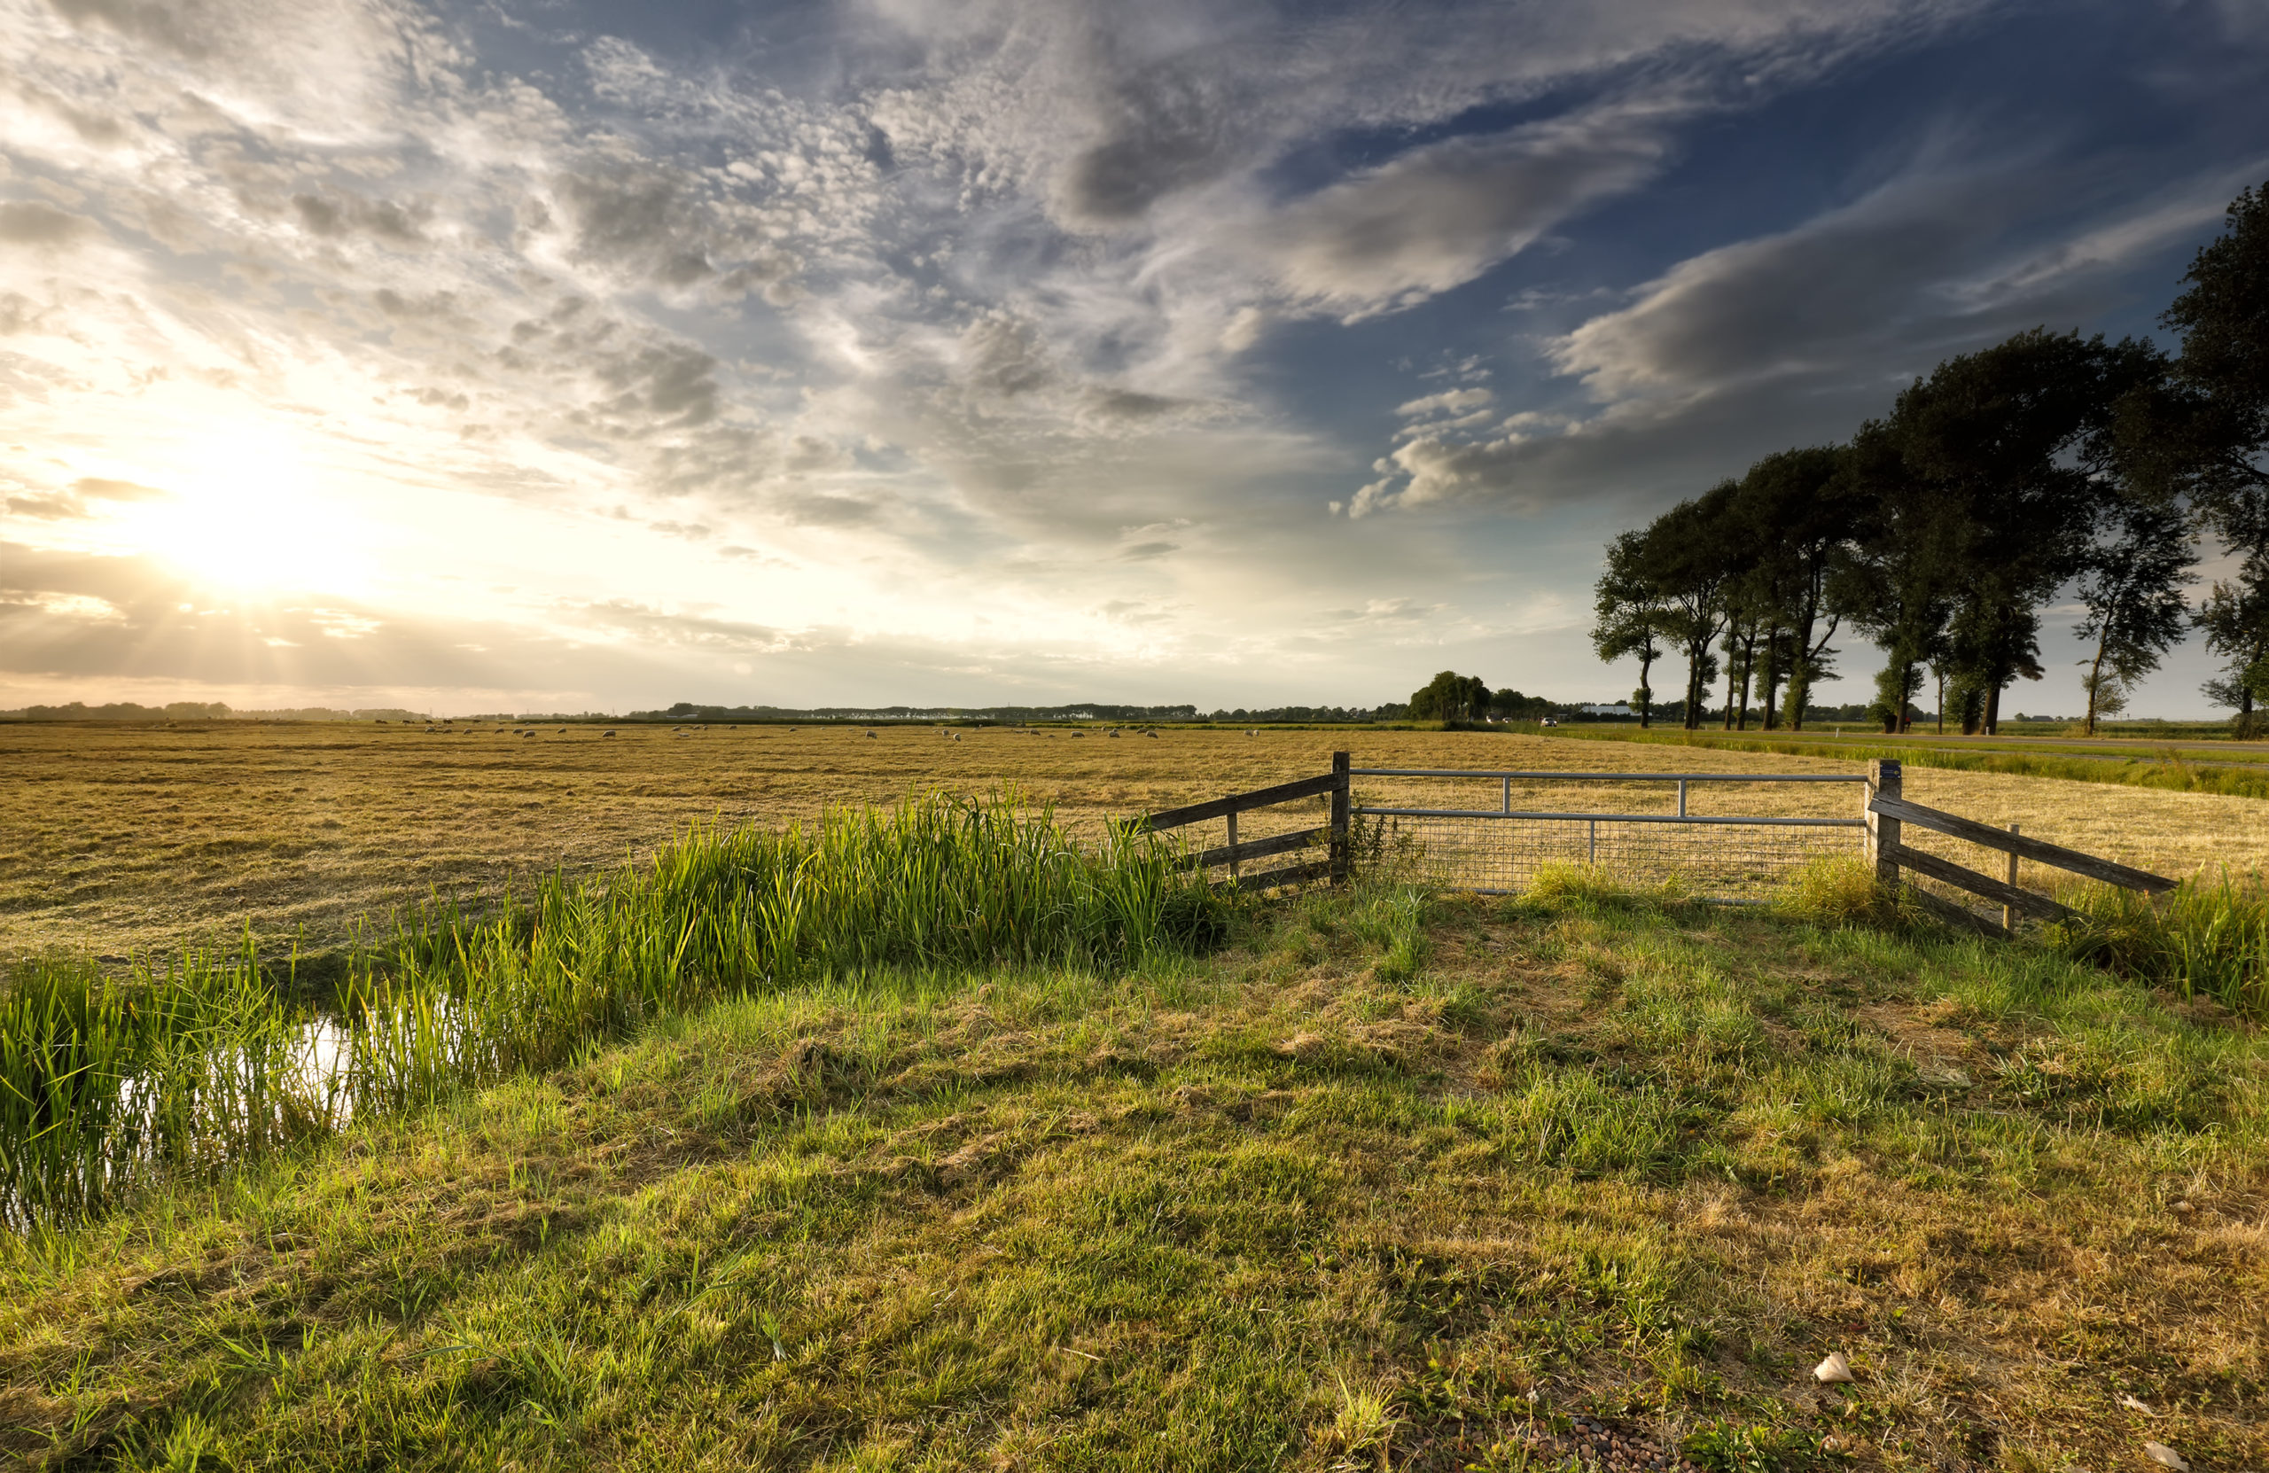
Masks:
[[[1804,726],[1849,629],[1883,654],[1872,715],[1992,733],[2010,681],[2040,679],[2040,613],[2085,611],[2087,729],[2196,629],[2205,685],[2242,735],[2269,724],[2269,186],[2183,277],[2149,340],[2033,329],[1940,363],[1845,445],[1786,449],[1606,547],[1593,647],[1686,665],[1686,724],[1724,676],[1724,724]],[[2199,538],[2237,561],[2194,608]]]

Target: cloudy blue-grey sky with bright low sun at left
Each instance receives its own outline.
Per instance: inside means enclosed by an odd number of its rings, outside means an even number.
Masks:
[[[1620,699],[1609,536],[2167,343],[2264,75],[2262,0],[0,0],[0,706]]]

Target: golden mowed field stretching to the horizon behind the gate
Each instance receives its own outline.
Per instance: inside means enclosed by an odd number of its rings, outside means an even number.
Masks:
[[[526,731],[529,726],[520,726]],[[359,921],[431,892],[492,894],[565,867],[651,853],[688,824],[778,824],[826,803],[910,790],[1023,788],[1087,831],[1110,817],[1307,776],[1334,749],[1359,767],[1570,772],[1858,772],[1833,758],[1693,751],[1464,731],[1071,731],[878,726],[9,724],[0,726],[0,962],[50,949],[132,956],[302,935],[338,946]],[[470,735],[454,735],[470,731]],[[1495,783],[1364,781],[1393,801],[1495,806]],[[1910,799],[2169,876],[2269,862],[2269,803],[2196,792],[1910,767]],[[1661,785],[1570,794],[1668,810]],[[1695,813],[1856,810],[1849,788],[1695,788]],[[1318,822],[1314,808],[1248,819],[1243,837]],[[1218,842],[1218,826],[1196,833]],[[1994,874],[1969,847],[1910,835]],[[2047,885],[2053,876],[2031,874]]]

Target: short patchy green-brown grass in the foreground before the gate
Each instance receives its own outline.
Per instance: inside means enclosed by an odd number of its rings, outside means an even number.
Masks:
[[[0,1239],[39,1468],[2235,1473],[2264,1396],[2260,1033],[1581,874],[815,978]]]

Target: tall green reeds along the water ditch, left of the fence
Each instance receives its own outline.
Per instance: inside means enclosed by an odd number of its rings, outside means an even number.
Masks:
[[[1019,797],[919,794],[781,831],[694,828],[594,881],[431,903],[356,946],[334,1010],[247,949],[127,980],[20,965],[0,992],[0,1217],[66,1223],[370,1110],[411,1108],[724,996],[883,969],[1119,969],[1225,901],[1153,835],[1082,851]]]

